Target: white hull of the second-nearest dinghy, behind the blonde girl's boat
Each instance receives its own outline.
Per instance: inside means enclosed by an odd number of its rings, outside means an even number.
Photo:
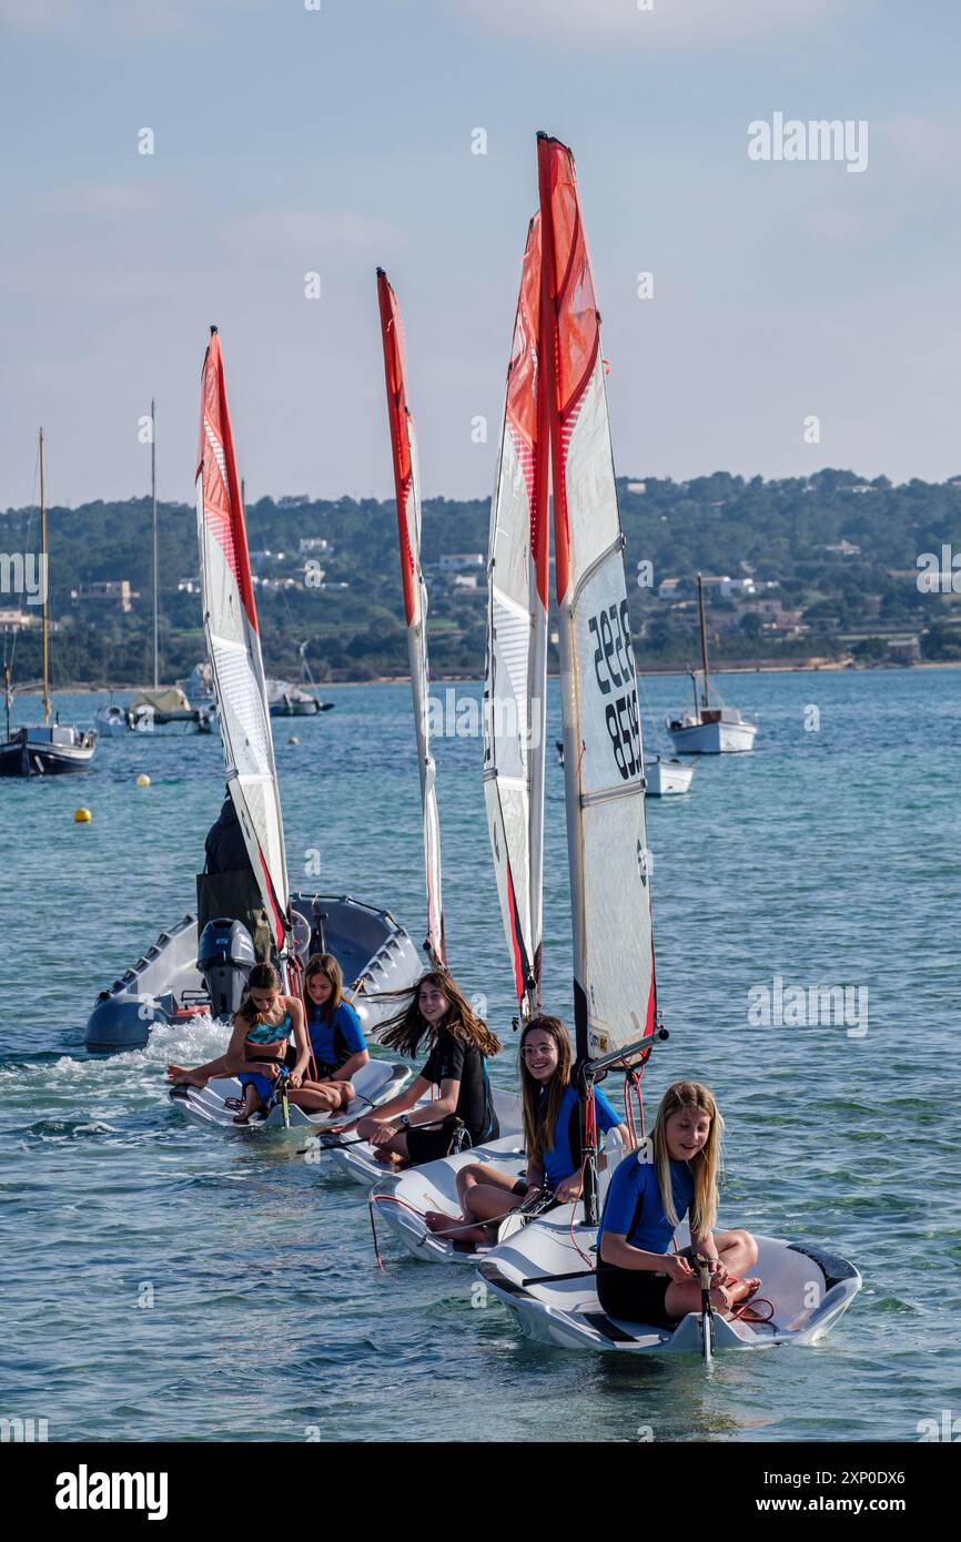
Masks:
[[[611,1173],[623,1156],[619,1130],[608,1132],[603,1150],[606,1167],[599,1173],[602,1203]],[[373,1189],[370,1204],[375,1217],[396,1232],[415,1258],[421,1258],[424,1263],[474,1263],[528,1224],[529,1217],[523,1215],[521,1210],[512,1210],[498,1226],[497,1243],[463,1243],[457,1237],[443,1237],[427,1231],[424,1224],[427,1210],[438,1210],[441,1215],[450,1217],[460,1215],[457,1173],[470,1163],[489,1164],[492,1170],[512,1181],[523,1178],[528,1170],[520,1135],[501,1135],[497,1141],[484,1141],[483,1146],[460,1152],[457,1156],[443,1156],[440,1161],[424,1163],[423,1167],[407,1167],[400,1177],[387,1177],[386,1183],[379,1183]]]

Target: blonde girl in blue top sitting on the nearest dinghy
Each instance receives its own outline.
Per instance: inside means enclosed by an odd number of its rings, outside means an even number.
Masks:
[[[686,1312],[699,1311],[694,1257],[710,1260],[711,1305],[719,1311],[756,1294],[760,1280],[745,1277],[757,1261],[751,1234],[711,1231],[722,1133],[711,1092],[697,1081],[676,1081],[657,1110],[652,1161],[640,1150],[617,1167],[600,1220],[597,1263],[597,1295],[609,1317],[674,1328]],[[691,1246],[673,1252],[674,1229],[685,1215]]]

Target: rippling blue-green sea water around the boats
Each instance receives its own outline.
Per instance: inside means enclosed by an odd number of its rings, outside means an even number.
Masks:
[[[646,1103],[680,1075],[708,1081],[728,1124],[722,1220],[858,1264],[864,1291],[831,1337],[720,1359],[710,1377],[532,1346],[475,1305],[469,1268],[421,1264],[387,1237],[378,1274],[362,1190],[293,1143],[188,1126],[164,1067],[208,1058],[211,1029],[88,1058],[96,992],[193,907],[219,806],[219,740],[165,729],[103,742],[86,779],[0,782],[0,1412],[46,1417],[57,1440],[634,1440],[645,1425],[912,1440],[961,1408],[961,671],[723,685],[760,714],[756,754],[700,762],[691,794],[648,814],[671,1038]],[[666,748],[660,723],[686,692],[645,682],[648,749]],[[275,723],[292,882],[319,850],[324,890],[389,905],[420,938],[409,691],[332,700]],[[89,722],[97,702],[59,705]],[[444,908],[452,964],[506,1042],[494,1078],[512,1086],[478,757],[472,739],[437,745]],[[72,822],[80,802],[91,825]],[[554,757],[546,862],[545,1001],[568,1016]],[[748,1025],[748,992],[776,976],[867,990],[867,1033]]]

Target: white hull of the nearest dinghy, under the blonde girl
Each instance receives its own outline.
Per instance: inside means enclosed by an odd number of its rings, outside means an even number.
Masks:
[[[571,1240],[571,1210],[566,1206],[532,1221],[478,1263],[481,1280],[514,1312],[521,1332],[563,1349],[702,1354],[699,1312],[683,1317],[674,1331],[631,1323],[608,1317],[591,1275],[561,1278],[589,1268],[585,1254],[591,1266],[597,1258],[592,1227],[575,1226],[577,1243]],[[714,1314],[714,1352],[818,1343],[850,1306],[861,1289],[861,1275],[845,1258],[819,1247],[776,1237],[756,1241],[759,1257],[753,1272],[762,1281],[759,1295],[771,1301],[774,1315],[770,1323],[744,1323]],[[552,1278],[540,1281],[541,1275]],[[807,1305],[813,1298],[816,1305]]]

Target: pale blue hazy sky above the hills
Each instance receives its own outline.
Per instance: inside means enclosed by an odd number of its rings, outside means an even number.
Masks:
[[[577,157],[619,473],[961,472],[956,0],[0,0],[0,507],[35,501],[40,424],[49,501],[142,495],[151,396],[191,501],[210,322],[248,500],[389,497],[378,264],[424,493],[489,497],[538,128]],[[867,123],[867,168],[751,159],[774,114]]]

